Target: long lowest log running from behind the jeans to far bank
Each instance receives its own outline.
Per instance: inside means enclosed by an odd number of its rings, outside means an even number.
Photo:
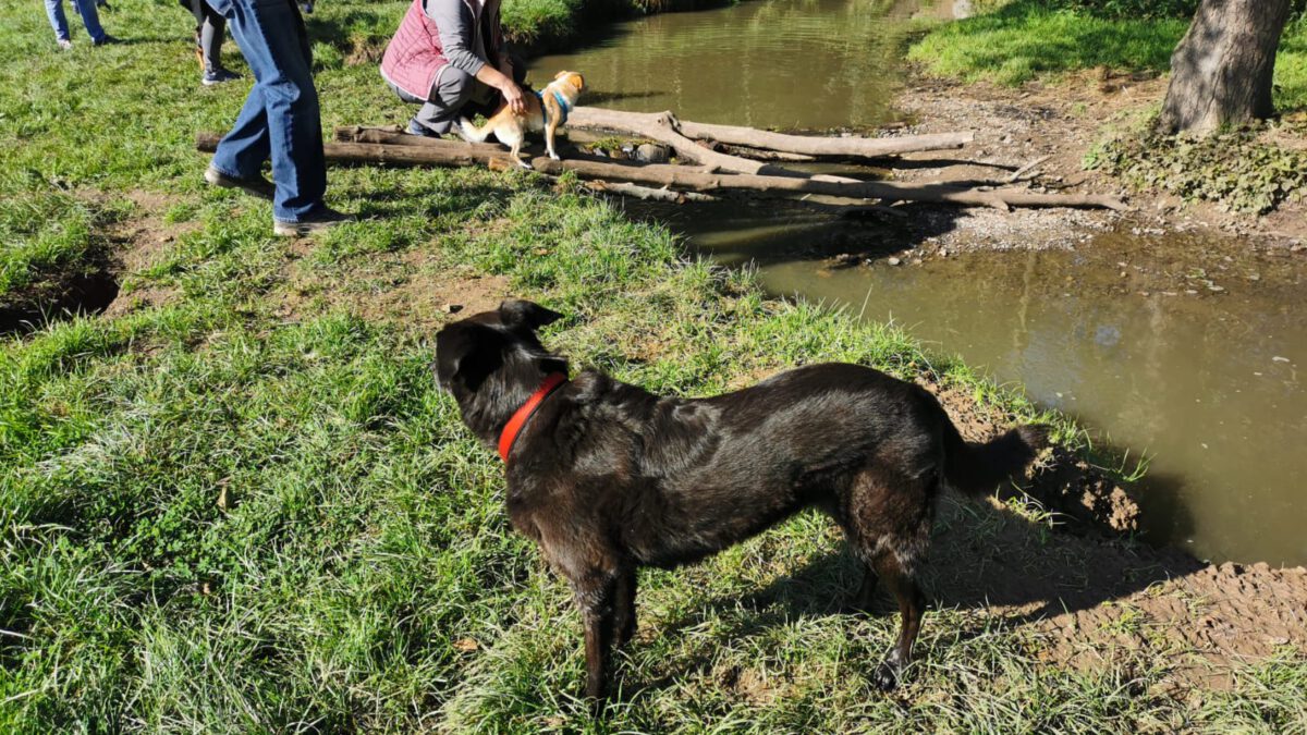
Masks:
[[[213,152],[217,148],[220,137],[216,133],[200,133],[196,139],[196,148]],[[328,161],[352,163],[471,166],[476,163],[489,165],[491,158],[499,162],[511,161],[507,150],[488,152],[480,145],[474,146],[468,143],[442,140],[429,140],[420,145],[328,143],[323,148]],[[750,191],[766,196],[819,194],[853,199],[878,199],[882,203],[938,201],[962,207],[995,207],[999,209],[1008,209],[1009,207],[1106,207],[1116,211],[1128,209],[1125,204],[1116,199],[1097,195],[1069,196],[1002,188],[975,191],[945,184],[923,186],[891,182],[844,183],[754,174],[716,174],[667,163],[600,162],[589,157],[554,161],[549,157],[538,156],[531,162],[542,174],[559,175],[563,171],[574,171],[583,179],[618,179],[654,187],[674,187],[698,192]]]

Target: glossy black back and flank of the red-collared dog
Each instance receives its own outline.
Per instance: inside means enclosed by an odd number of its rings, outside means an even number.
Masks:
[[[548,459],[520,481],[566,475],[578,505],[618,517],[616,540],[640,564],[695,561],[805,506],[835,510],[869,468],[942,471],[935,399],[869,368],[814,365],[708,399],[657,398],[597,374],[575,387],[559,396],[557,426],[541,417]]]

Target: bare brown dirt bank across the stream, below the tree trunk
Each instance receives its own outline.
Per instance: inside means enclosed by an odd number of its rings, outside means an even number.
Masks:
[[[1094,231],[1213,230],[1231,248],[1303,251],[1307,205],[1285,203],[1269,216],[1223,212],[1208,203],[1184,203],[1166,194],[1127,191],[1112,177],[1085,169],[1085,157],[1114,129],[1140,124],[1166,92],[1162,78],[1107,71],[1081,72],[1064,82],[1027,82],[1013,89],[988,82],[961,84],[910,72],[897,105],[914,123],[895,135],[975,131],[975,144],[957,156],[904,156],[894,167],[901,180],[1006,179],[1030,171],[1034,191],[1114,194],[1134,211],[968,211],[935,247],[950,251],[1074,247]],[[1026,178],[1026,177],[1023,177]],[[927,213],[929,216],[929,213]],[[929,252],[927,248],[925,252]]]

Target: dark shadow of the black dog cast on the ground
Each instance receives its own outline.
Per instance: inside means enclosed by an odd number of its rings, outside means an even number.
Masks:
[[[988,501],[945,497],[921,586],[932,608],[985,612],[968,624],[971,629],[957,630],[959,638],[968,638],[995,621],[1006,628],[1036,624],[1128,598],[1205,566],[1183,552],[1106,535],[1082,523],[1056,528]],[[712,599],[659,626],[657,634],[682,636],[714,611],[741,608],[746,613],[721,636],[744,638],[795,620],[833,615],[851,616],[852,625],[852,616],[864,615],[851,608],[861,575],[861,564],[840,545],[745,596]],[[884,591],[877,598],[872,615],[897,613]],[[927,628],[932,617],[927,617]],[[626,698],[711,666],[712,658],[704,653],[656,679],[627,681]]]

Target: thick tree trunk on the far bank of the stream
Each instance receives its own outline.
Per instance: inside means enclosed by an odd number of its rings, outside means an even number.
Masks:
[[[1171,54],[1159,126],[1208,133],[1269,118],[1276,50],[1290,0],[1202,0]]]

